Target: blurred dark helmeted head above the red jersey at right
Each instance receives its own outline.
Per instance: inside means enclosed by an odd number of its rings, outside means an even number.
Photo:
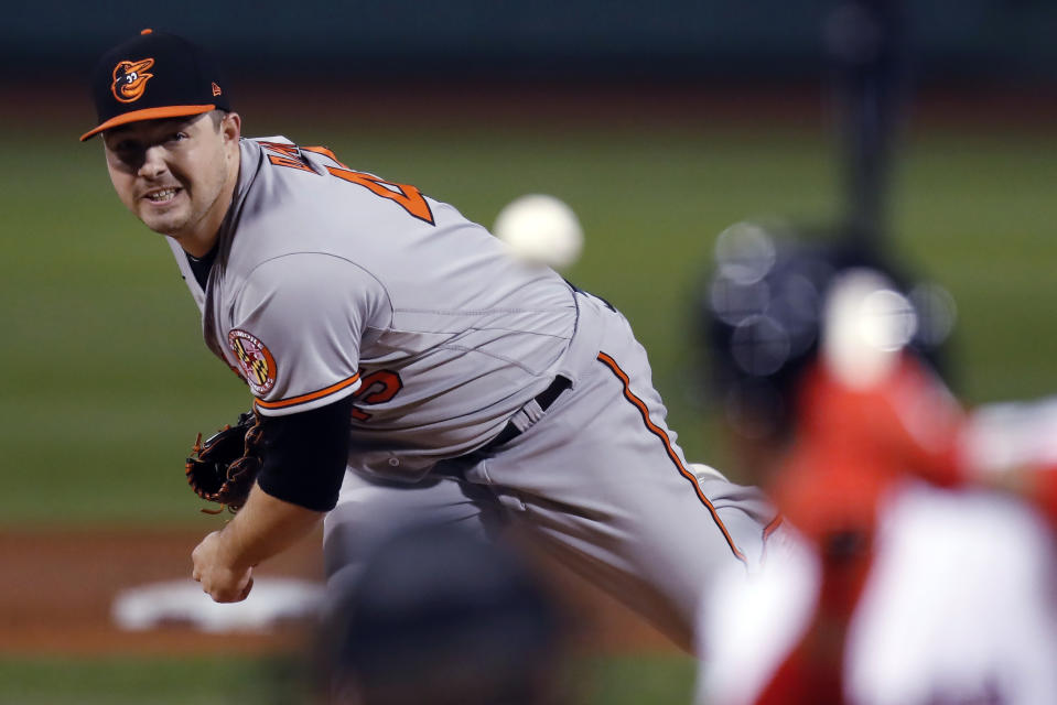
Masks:
[[[754,480],[789,440],[797,388],[818,355],[824,303],[841,273],[867,269],[893,282],[917,318],[908,349],[947,372],[951,296],[846,242],[749,221],[716,238],[694,308],[701,369],[709,370],[703,395],[731,431],[738,469]]]

